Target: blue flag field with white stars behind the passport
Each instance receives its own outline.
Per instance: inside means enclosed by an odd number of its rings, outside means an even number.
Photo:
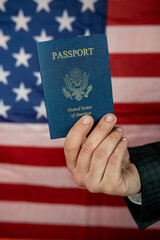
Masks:
[[[46,123],[36,42],[105,33],[105,0],[0,1],[0,121]]]

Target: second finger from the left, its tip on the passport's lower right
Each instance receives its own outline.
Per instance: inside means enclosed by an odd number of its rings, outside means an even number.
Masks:
[[[92,154],[97,146],[106,138],[116,124],[116,116],[107,114],[101,118],[99,123],[87,137],[79,152],[76,172],[85,175],[89,171]]]

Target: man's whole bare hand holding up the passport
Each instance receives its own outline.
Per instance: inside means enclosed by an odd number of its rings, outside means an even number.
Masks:
[[[77,185],[93,193],[129,196],[140,191],[140,178],[116,121],[113,114],[103,116],[87,136],[94,120],[82,117],[69,131],[64,152]]]

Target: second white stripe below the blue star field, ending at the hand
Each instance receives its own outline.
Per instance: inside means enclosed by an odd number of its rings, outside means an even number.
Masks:
[[[0,183],[77,188],[66,167],[39,167],[0,163]]]

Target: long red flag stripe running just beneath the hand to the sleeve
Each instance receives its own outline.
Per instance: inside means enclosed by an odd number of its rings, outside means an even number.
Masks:
[[[31,185],[0,184],[0,200],[27,201],[86,206],[126,206],[122,197],[102,193],[92,194],[86,189],[49,188]]]

